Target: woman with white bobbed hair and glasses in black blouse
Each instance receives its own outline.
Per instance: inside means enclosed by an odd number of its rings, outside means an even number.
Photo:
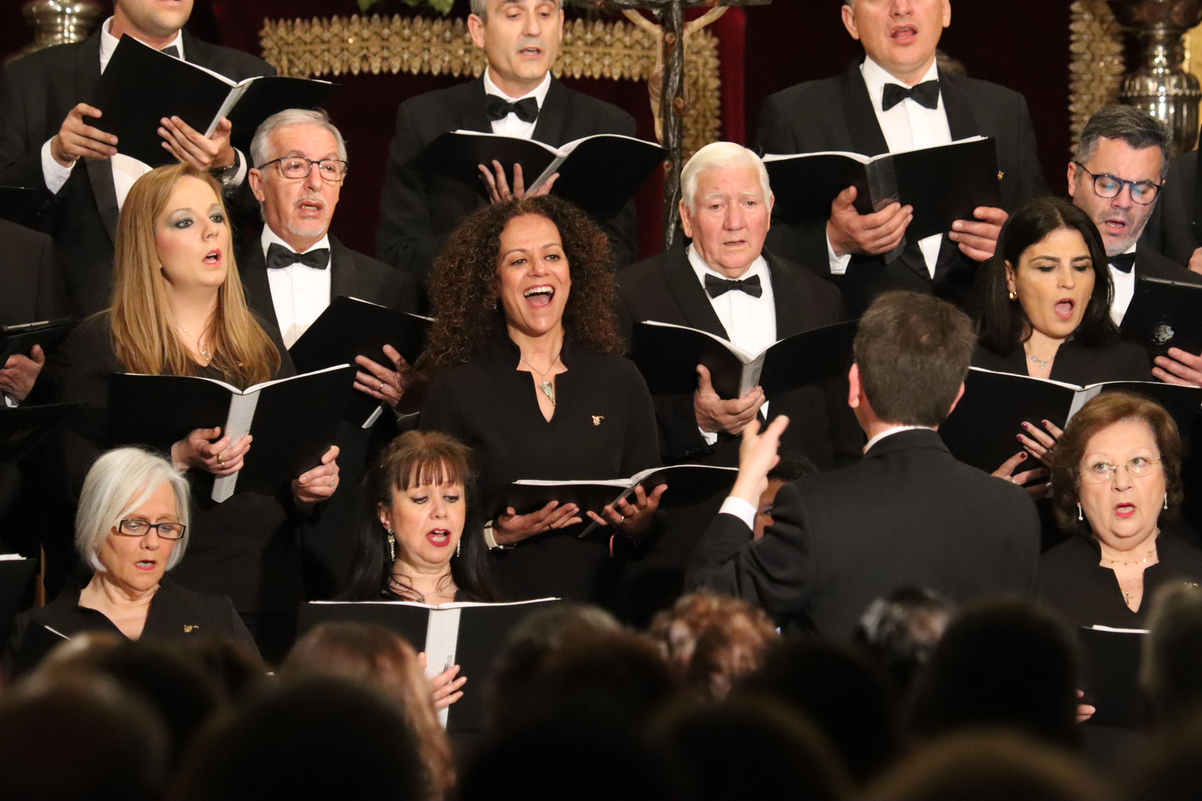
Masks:
[[[47,606],[13,621],[4,674],[24,673],[64,638],[112,632],[131,640],[228,636],[255,641],[228,598],[179,586],[166,573],[184,558],[189,538],[188,479],[169,461],[139,448],[96,460],[83,483],[76,548],[94,570]]]

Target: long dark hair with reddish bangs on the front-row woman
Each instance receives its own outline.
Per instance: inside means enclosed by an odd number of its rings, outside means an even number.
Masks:
[[[439,431],[406,431],[383,449],[363,479],[355,561],[341,600],[400,599],[389,590],[393,557],[388,532],[376,509],[392,507],[393,489],[439,482],[462,483],[468,507],[459,551],[451,557],[451,578],[459,590],[459,600],[498,599],[488,574],[488,546],[471,449]]]

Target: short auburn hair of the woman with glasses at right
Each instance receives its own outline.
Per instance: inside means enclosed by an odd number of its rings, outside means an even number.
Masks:
[[[1173,416],[1154,400],[1133,393],[1111,391],[1093,397],[1072,416],[1064,435],[1052,452],[1052,503],[1055,519],[1065,531],[1089,533],[1089,521],[1077,520],[1081,460],[1085,458],[1089,441],[1123,420],[1147,423],[1160,452],[1160,470],[1165,473],[1165,494],[1168,509],[1161,516],[1177,512],[1184,497],[1182,489],[1182,435]]]

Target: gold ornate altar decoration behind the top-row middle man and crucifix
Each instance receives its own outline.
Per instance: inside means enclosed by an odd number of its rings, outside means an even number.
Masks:
[[[451,74],[480,77],[487,61],[463,19],[373,16],[264,20],[258,34],[263,59],[281,76],[309,78],[359,74]],[[660,56],[654,32],[635,25],[576,19],[564,26],[557,78],[648,80]],[[689,40],[685,88],[685,157],[716,142],[722,127],[718,37],[700,30]]]

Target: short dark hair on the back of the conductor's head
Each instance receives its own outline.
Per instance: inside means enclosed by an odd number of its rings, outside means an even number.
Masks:
[[[942,425],[969,373],[972,321],[916,292],[880,295],[864,312],[852,352],[864,395],[881,420]]]

